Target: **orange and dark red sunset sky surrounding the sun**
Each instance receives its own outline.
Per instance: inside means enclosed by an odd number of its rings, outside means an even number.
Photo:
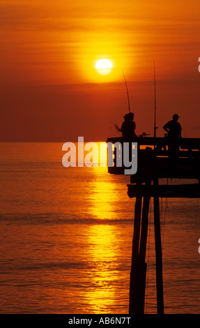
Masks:
[[[1,0],[1,141],[106,140],[128,110],[157,135],[174,112],[200,137],[200,2]],[[111,59],[109,75],[94,68]]]

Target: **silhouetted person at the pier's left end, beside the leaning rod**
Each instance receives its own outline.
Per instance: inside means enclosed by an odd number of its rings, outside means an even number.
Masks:
[[[133,141],[137,137],[137,135],[134,132],[136,128],[136,124],[133,121],[133,119],[134,119],[134,114],[132,112],[125,114],[124,116],[124,121],[120,131],[122,133],[123,140],[125,142]]]

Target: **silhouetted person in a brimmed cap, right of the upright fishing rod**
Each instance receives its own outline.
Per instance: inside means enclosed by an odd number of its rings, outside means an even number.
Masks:
[[[167,131],[167,137],[170,140],[178,140],[181,137],[181,125],[178,122],[178,114],[173,115],[173,119],[171,121],[168,121],[166,124],[164,124],[163,128],[164,131]],[[170,144],[169,145],[169,150],[170,151],[178,151],[179,150],[179,145],[178,144]]]

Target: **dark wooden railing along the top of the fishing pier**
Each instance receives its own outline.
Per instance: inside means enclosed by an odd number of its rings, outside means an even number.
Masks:
[[[108,138],[115,144],[123,138]],[[152,181],[162,178],[200,179],[200,138],[137,137],[137,173],[131,176],[131,183]],[[110,174],[124,174],[125,167],[108,167]]]

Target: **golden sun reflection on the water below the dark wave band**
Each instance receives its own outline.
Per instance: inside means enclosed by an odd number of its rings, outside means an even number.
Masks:
[[[89,304],[93,305],[94,313],[109,306],[114,306],[114,281],[118,279],[116,228],[111,225],[93,225],[89,228],[90,260],[95,263],[91,272],[91,282],[95,288],[88,293]]]

